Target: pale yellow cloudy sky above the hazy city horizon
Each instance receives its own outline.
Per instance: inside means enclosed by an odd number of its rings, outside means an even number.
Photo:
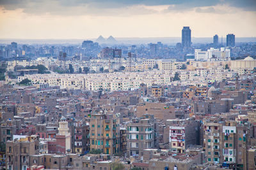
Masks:
[[[256,36],[256,0],[0,0],[0,38]]]

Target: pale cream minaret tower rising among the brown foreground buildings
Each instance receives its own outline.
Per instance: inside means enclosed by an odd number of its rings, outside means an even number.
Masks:
[[[68,132],[69,131],[68,122],[66,120],[67,118],[63,116],[60,118],[58,135],[65,136],[65,146],[66,146],[66,152],[67,152],[67,150],[71,150],[71,136],[70,136],[70,132]]]

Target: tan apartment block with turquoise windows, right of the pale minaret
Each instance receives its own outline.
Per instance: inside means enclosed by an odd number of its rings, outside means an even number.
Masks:
[[[94,113],[90,118],[90,150],[113,155],[120,152],[120,119]]]

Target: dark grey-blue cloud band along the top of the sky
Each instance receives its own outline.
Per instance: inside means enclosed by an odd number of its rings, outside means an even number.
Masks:
[[[255,0],[0,0],[0,6],[4,10],[22,9],[24,13],[33,15],[145,15],[156,12],[145,6],[161,5],[168,6],[164,12],[182,12],[196,8],[198,13],[214,13],[212,6],[224,4],[245,11],[256,11]],[[132,11],[125,11],[131,9]]]

